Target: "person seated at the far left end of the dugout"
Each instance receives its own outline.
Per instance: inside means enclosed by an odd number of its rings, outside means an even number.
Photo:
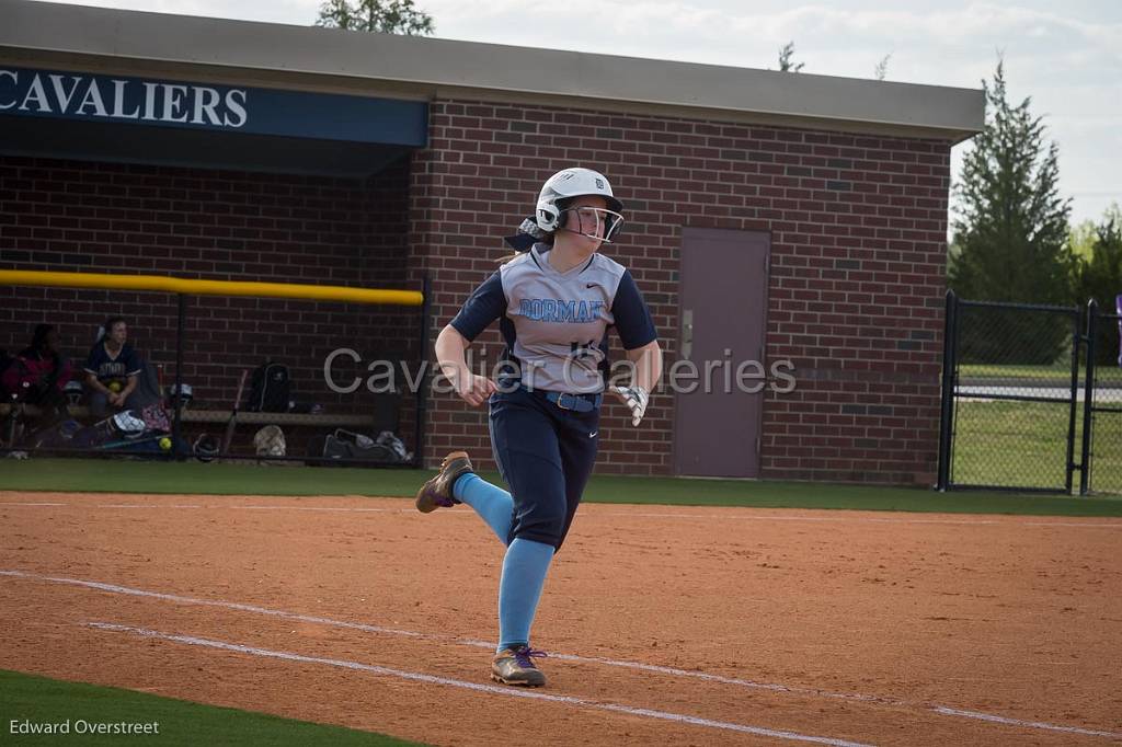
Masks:
[[[3,370],[6,399],[39,408],[39,416],[29,423],[38,430],[66,417],[64,388],[72,369],[59,351],[58,331],[50,324],[36,324],[31,343],[10,359]]]

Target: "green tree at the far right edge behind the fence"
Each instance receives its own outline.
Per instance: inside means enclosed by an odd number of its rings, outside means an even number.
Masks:
[[[1122,294],[1122,210],[1116,203],[1103,214],[1103,222],[1095,225],[1091,257],[1079,258],[1078,294],[1084,302],[1089,298],[1098,302],[1101,314],[1114,313],[1115,298]],[[1116,363],[1118,328],[1113,321],[1101,321],[1098,328],[1096,362]]]

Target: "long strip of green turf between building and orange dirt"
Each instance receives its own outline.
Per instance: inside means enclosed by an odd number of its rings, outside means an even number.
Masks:
[[[0,462],[0,490],[263,496],[413,496],[426,470],[257,467],[123,460],[30,459]],[[495,474],[485,478],[498,481]],[[1122,498],[938,494],[819,482],[594,477],[585,500],[679,506],[756,506],[862,510],[1122,516]]]

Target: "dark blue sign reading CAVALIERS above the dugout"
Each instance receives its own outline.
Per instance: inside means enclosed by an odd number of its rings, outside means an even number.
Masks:
[[[420,101],[0,67],[0,117],[177,127],[423,147]]]

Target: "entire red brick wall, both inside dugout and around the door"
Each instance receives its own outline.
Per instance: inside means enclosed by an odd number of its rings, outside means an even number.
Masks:
[[[668,366],[682,227],[771,233],[766,354],[790,359],[798,385],[765,395],[763,477],[932,481],[948,142],[470,101],[430,112],[430,147],[366,183],[0,157],[0,266],[408,288],[429,274],[431,342],[494,271],[502,237],[531,212],[542,181],[580,164],[607,174],[627,204],[609,253],[638,280]],[[21,344],[47,321],[84,354],[96,322],[120,312],[151,358],[171,362],[171,298],[0,288],[0,344]],[[362,407],[364,390],[331,396],[323,357],[341,343],[360,353],[340,379],[384,353],[414,359],[416,319],[193,299],[185,374],[224,406],[240,368],[276,356],[293,366],[300,398]],[[481,342],[497,360],[497,331]],[[430,463],[468,448],[491,465],[482,411],[433,395],[429,428]],[[597,469],[668,473],[672,445],[669,394],[655,395],[638,431],[613,404]]]

